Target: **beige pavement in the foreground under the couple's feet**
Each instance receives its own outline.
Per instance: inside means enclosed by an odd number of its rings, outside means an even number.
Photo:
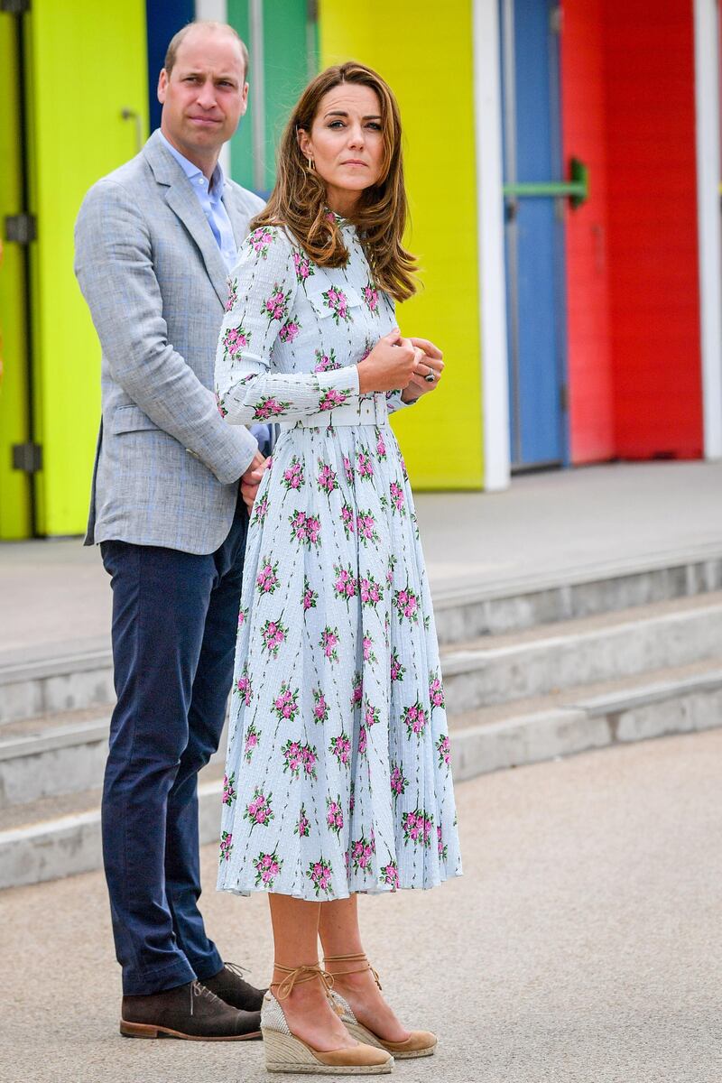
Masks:
[[[717,730],[459,785],[464,876],[362,900],[384,991],[442,1040],[394,1078],[720,1083],[721,757]],[[216,895],[215,862],[206,847],[209,929],[261,983],[265,900]],[[270,1078],[257,1043],[118,1036],[100,874],[3,892],[0,939],[3,1083]]]

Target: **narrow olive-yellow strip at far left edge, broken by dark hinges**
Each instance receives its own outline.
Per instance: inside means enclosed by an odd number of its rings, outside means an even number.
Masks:
[[[0,221],[22,209],[15,23],[0,14]],[[4,233],[4,231],[3,231]],[[12,469],[12,445],[27,439],[23,251],[0,240],[0,539],[30,531],[29,482]]]

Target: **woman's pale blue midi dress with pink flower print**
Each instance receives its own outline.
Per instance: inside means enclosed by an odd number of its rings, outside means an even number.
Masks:
[[[238,893],[342,899],[461,872],[431,596],[388,423],[401,395],[364,396],[373,423],[347,420],[394,305],[337,227],[341,269],[255,230],[219,341],[221,414],[281,422],[238,618],[218,882]]]

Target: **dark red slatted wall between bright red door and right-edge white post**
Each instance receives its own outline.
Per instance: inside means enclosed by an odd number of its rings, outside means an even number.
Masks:
[[[615,448],[703,451],[692,0],[602,0]]]

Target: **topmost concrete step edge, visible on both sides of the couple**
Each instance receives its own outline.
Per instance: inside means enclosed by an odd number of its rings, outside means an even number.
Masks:
[[[434,590],[442,644],[583,619],[722,590],[722,547],[699,546],[644,561],[609,562],[563,577],[530,574]],[[74,645],[75,642],[75,645]],[[107,707],[115,699],[107,637],[0,653],[0,727],[38,715]]]

